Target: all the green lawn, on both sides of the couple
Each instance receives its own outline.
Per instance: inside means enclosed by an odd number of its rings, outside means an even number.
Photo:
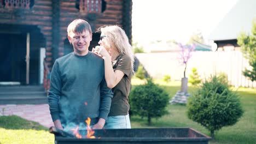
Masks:
[[[170,99],[178,91],[181,83],[172,81],[169,83],[155,80],[162,88],[170,93]],[[132,79],[132,87],[142,84],[143,81]],[[233,88],[236,90],[237,88]],[[196,88],[189,86],[189,92],[193,93]],[[231,127],[224,127],[217,131],[216,140],[210,143],[255,143],[256,141],[256,89],[238,88],[245,113],[240,121]],[[160,128],[160,127],[189,127],[203,134],[210,132],[186,116],[185,105],[168,105],[169,114],[159,119],[152,119],[152,126],[148,126],[147,119],[138,116],[131,117],[132,128]],[[54,135],[48,132],[48,128],[42,125],[26,121],[18,116],[0,116],[0,144],[3,143],[54,143]]]

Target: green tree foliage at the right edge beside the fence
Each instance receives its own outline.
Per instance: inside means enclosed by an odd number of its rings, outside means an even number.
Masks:
[[[237,37],[237,44],[241,46],[241,51],[251,66],[251,69],[243,71],[243,75],[251,81],[256,81],[256,19],[252,23],[252,34],[247,35],[246,32],[241,32]]]

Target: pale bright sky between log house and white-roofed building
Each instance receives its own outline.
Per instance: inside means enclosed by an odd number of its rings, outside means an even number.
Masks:
[[[207,39],[238,0],[133,0],[132,39],[138,44],[155,40],[187,43],[199,29]]]

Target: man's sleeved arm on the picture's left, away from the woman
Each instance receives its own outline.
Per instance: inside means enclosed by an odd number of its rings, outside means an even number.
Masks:
[[[50,89],[48,94],[48,104],[50,109],[51,118],[53,119],[54,126],[63,129],[59,117],[59,98],[61,95],[61,79],[59,73],[59,64],[57,61],[54,63],[51,70]]]

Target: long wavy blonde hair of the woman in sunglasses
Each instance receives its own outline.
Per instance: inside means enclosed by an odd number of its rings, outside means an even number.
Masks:
[[[101,32],[104,33],[109,41],[114,45],[117,51],[121,54],[129,56],[131,59],[131,69],[133,71],[133,63],[135,61],[134,54],[132,52],[132,46],[129,43],[129,39],[125,34],[125,31],[119,26],[105,26],[101,27]]]

